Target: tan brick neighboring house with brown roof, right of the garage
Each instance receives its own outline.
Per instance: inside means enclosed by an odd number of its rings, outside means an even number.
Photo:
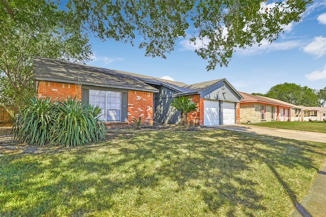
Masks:
[[[297,106],[283,101],[255,96],[246,92],[239,92],[243,97],[240,101],[240,123],[261,121],[290,121],[291,115],[299,116],[300,112],[295,110]],[[292,110],[293,108],[293,110]]]

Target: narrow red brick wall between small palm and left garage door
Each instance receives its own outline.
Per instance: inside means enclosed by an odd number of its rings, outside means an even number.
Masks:
[[[192,95],[189,99],[197,103],[197,111],[188,113],[187,123],[202,126],[204,124],[204,99],[200,99],[200,95]]]

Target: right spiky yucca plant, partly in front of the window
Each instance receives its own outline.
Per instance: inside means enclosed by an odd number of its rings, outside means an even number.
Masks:
[[[82,105],[68,98],[58,102],[55,108],[51,145],[76,146],[104,139],[104,125],[97,117],[98,107]]]

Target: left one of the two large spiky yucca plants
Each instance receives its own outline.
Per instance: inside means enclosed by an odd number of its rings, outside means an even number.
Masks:
[[[13,120],[11,134],[26,144],[45,145],[51,139],[53,100],[31,98],[27,106]]]

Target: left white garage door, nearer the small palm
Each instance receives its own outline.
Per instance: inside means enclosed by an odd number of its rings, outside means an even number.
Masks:
[[[204,125],[220,125],[219,101],[204,100]]]

